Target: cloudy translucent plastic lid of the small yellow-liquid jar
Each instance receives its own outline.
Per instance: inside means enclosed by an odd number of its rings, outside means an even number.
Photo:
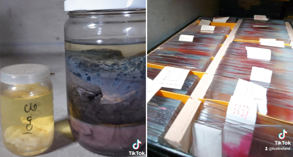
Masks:
[[[42,64],[16,64],[0,71],[0,81],[5,84],[33,84],[50,77],[50,69]]]

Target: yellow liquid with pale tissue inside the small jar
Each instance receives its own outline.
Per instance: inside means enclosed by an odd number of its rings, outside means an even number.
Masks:
[[[44,152],[53,142],[53,94],[40,84],[5,90],[0,99],[2,137],[6,148],[22,156]]]

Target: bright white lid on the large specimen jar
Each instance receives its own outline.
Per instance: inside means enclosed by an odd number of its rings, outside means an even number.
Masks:
[[[146,0],[66,0],[65,11],[146,8]]]

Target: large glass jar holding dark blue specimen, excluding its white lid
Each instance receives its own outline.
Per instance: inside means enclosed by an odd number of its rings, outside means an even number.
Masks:
[[[92,152],[129,155],[146,143],[146,9],[67,11],[72,134]]]

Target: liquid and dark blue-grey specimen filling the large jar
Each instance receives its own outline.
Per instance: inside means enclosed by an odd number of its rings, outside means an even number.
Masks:
[[[103,155],[146,143],[145,43],[65,43],[67,106],[74,138]]]

